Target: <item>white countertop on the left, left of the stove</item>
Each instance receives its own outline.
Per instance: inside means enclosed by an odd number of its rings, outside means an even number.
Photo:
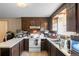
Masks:
[[[13,38],[11,40],[8,40],[6,42],[0,43],[0,48],[12,48],[14,45],[19,43],[23,39],[28,39],[28,37],[23,37],[23,38]]]

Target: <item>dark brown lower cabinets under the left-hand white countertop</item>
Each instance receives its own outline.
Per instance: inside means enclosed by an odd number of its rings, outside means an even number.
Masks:
[[[24,50],[29,51],[29,39],[23,39],[11,48],[0,48],[0,56],[20,56]]]

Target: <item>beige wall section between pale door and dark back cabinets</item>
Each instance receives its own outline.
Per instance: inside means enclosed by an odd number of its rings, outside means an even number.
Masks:
[[[8,31],[16,32],[17,29],[21,29],[21,19],[8,19]]]

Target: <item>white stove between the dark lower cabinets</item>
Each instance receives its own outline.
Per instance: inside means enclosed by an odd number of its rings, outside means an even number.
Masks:
[[[41,39],[39,34],[31,34],[29,38],[29,52],[41,51]]]

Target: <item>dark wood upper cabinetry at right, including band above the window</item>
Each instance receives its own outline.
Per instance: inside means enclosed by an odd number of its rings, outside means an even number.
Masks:
[[[79,8],[79,7],[78,7]],[[62,4],[51,16],[52,18],[59,15],[64,9],[66,9],[66,30],[69,32],[76,32],[76,3]],[[57,25],[58,27],[58,25]],[[78,27],[79,28],[79,27]],[[58,29],[57,29],[58,30]]]

